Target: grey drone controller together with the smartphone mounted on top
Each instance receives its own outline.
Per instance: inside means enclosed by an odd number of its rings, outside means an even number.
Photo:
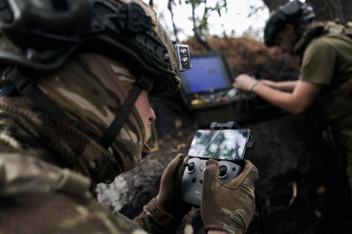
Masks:
[[[242,167],[237,162],[243,161],[246,148],[253,147],[251,130],[241,128],[235,122],[213,122],[210,129],[197,130],[188,151],[190,159],[182,176],[182,199],[201,206],[207,160],[218,162],[219,182],[225,185],[241,174]]]

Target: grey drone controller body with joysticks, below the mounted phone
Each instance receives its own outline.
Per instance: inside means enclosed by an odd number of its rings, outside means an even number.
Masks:
[[[187,161],[187,167],[181,182],[182,199],[193,205],[201,206],[203,176],[207,160],[199,158],[190,158]],[[219,164],[219,182],[227,184],[238,175],[242,168],[229,161],[218,161]]]

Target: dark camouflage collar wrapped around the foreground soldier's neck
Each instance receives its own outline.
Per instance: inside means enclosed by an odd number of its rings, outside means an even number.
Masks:
[[[122,172],[120,161],[91,137],[36,109],[24,97],[0,98],[0,152],[22,153],[68,168],[93,185]]]

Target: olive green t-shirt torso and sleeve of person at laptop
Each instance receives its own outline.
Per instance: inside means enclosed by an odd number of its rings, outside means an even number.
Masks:
[[[323,85],[314,104],[321,123],[349,119],[352,126],[352,39],[325,34],[314,38],[303,53],[300,80]]]

